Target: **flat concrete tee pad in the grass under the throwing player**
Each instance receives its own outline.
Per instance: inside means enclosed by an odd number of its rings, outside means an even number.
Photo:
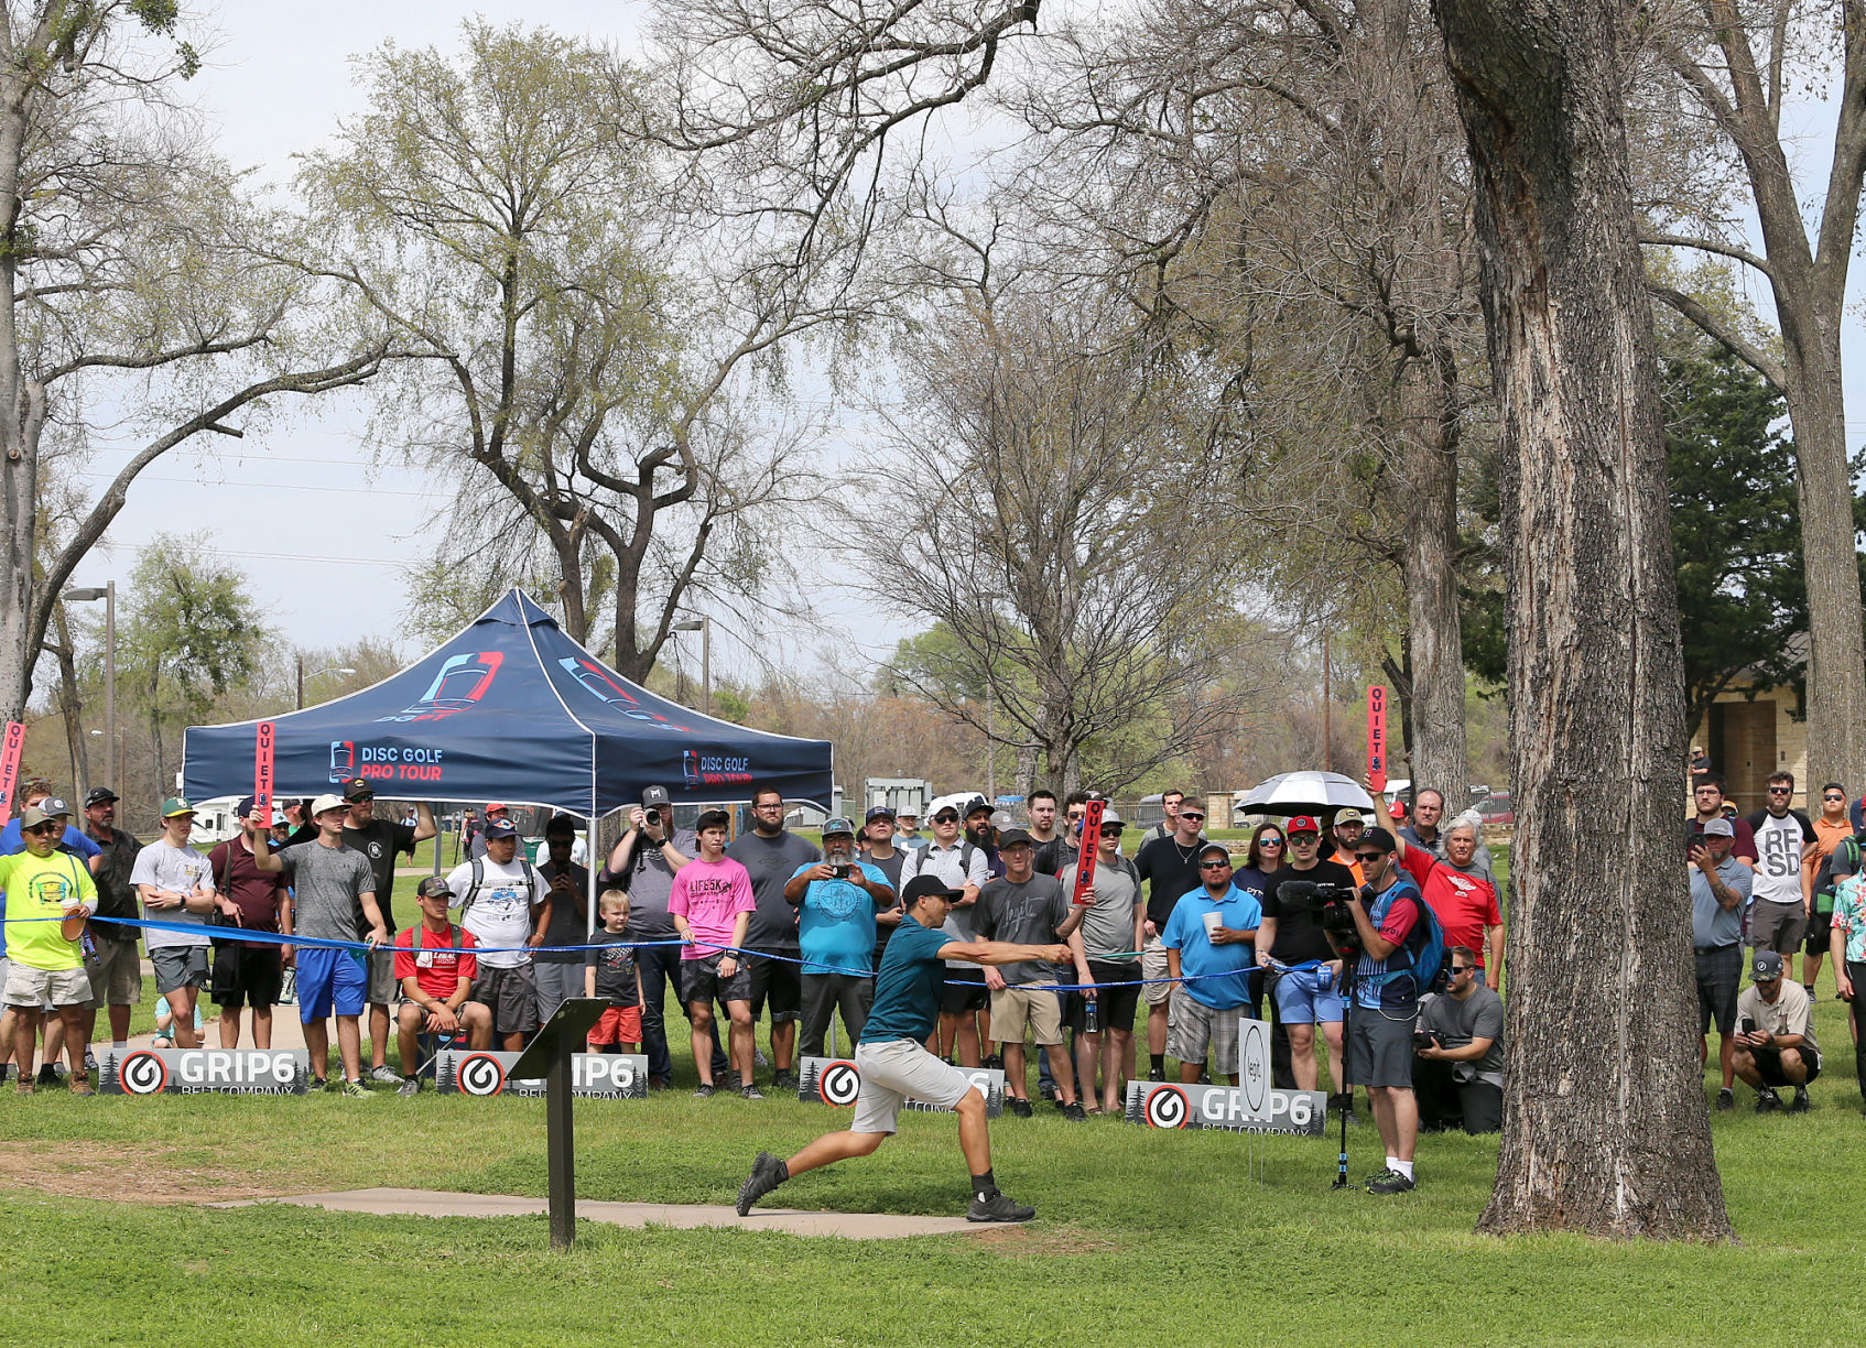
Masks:
[[[265,1203],[289,1203],[330,1212],[371,1212],[412,1217],[524,1217],[545,1212],[543,1199],[508,1193],[439,1193],[435,1190],[347,1190],[341,1193],[299,1193]],[[246,1208],[252,1203],[215,1203],[216,1208]],[[799,1212],[795,1208],[754,1208],[741,1217],[733,1208],[681,1203],[597,1203],[578,1199],[577,1216],[618,1227],[743,1227],[746,1231],[786,1231],[793,1236],[842,1236],[845,1240],[894,1240],[899,1236],[952,1236],[985,1231],[989,1223],[965,1217],[901,1217],[884,1212]]]

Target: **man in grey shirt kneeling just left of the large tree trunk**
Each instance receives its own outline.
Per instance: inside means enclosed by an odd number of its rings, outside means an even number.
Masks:
[[[1452,981],[1418,1014],[1413,1087],[1427,1132],[1461,1122],[1467,1134],[1504,1126],[1504,999],[1478,975],[1478,953],[1452,947]]]

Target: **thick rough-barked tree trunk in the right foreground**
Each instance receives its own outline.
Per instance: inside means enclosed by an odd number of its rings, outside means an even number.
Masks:
[[[1623,11],[1437,0],[1437,15],[1476,170],[1502,412],[1521,820],[1504,1145],[1480,1229],[1728,1236],[1685,871],[1657,841],[1685,813],[1683,671]]]

